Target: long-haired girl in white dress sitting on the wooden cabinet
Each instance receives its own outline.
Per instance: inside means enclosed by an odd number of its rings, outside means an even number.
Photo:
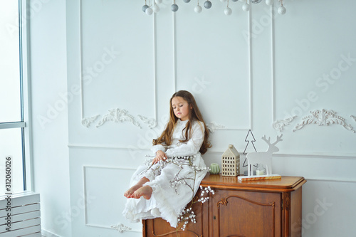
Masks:
[[[154,140],[155,159],[132,175],[123,214],[131,221],[162,217],[176,227],[179,214],[197,193],[207,168],[201,154],[211,147],[209,130],[191,93],[170,100],[169,122]]]

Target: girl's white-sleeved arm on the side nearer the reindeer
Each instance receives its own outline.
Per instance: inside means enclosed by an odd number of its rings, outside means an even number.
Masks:
[[[169,148],[165,151],[167,157],[192,156],[199,152],[204,141],[204,126],[201,122],[194,122],[192,125],[192,137],[187,143],[181,143],[178,147]]]

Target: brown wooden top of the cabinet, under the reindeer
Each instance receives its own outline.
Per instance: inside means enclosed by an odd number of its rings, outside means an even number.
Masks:
[[[206,174],[201,186],[219,189],[239,189],[253,191],[294,191],[305,184],[303,177],[283,176],[281,179],[256,181],[239,181],[237,177],[226,177],[221,174]]]

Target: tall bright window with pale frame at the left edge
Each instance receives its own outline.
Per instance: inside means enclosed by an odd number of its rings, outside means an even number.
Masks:
[[[11,156],[11,193],[28,190],[28,93],[26,67],[26,1],[0,6],[0,195],[5,190],[6,157]],[[25,8],[26,9],[26,8]],[[25,58],[25,59],[24,59]]]

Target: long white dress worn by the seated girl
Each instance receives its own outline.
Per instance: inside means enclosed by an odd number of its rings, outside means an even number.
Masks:
[[[122,214],[130,221],[161,217],[172,227],[176,227],[179,214],[197,193],[207,172],[199,152],[204,140],[204,126],[201,122],[194,121],[191,139],[182,143],[179,140],[184,139],[187,121],[177,121],[172,145],[164,147],[158,144],[151,149],[154,154],[158,150],[165,152],[169,157],[168,162],[157,163],[152,167],[150,164],[142,165],[132,175],[130,186],[135,185],[142,177],[150,180],[144,185],[152,187],[152,196],[150,200],[143,196],[140,199],[127,199]],[[187,159],[188,156],[192,158]],[[183,180],[177,181],[179,179]]]

